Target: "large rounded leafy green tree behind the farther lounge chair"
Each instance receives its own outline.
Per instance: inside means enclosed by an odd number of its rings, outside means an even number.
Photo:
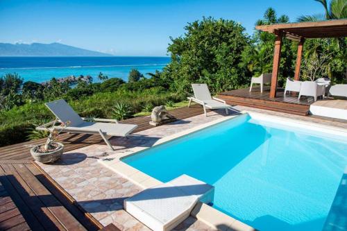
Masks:
[[[204,17],[189,23],[184,36],[171,37],[171,62],[162,79],[180,94],[189,94],[191,83],[207,83],[212,93],[248,84],[242,53],[249,42],[244,27],[231,20]]]

